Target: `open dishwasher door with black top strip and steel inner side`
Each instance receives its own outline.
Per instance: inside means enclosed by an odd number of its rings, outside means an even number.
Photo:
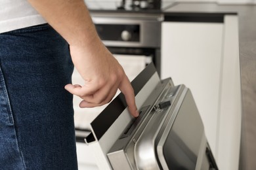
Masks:
[[[152,63],[132,85],[139,117],[129,116],[120,94],[92,122],[86,139],[97,141],[110,169],[218,169],[186,86],[160,80]]]

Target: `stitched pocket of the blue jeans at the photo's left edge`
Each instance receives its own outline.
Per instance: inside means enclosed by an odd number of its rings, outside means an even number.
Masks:
[[[0,126],[12,126],[14,124],[11,103],[5,86],[5,79],[0,65]]]

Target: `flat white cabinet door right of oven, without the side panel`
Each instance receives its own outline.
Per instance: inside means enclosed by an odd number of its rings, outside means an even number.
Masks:
[[[216,158],[223,24],[163,22],[161,31],[161,78],[190,88]]]

